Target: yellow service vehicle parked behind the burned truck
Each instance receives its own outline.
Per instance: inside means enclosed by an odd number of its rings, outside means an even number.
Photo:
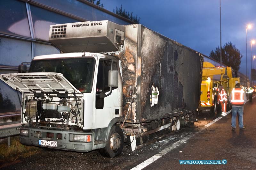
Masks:
[[[204,62],[200,97],[201,113],[217,114],[219,86],[222,85],[229,96],[236,83],[240,83],[240,78],[236,77],[231,67],[215,67],[212,63]]]

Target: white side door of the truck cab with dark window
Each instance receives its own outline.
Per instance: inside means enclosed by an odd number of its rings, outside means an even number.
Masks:
[[[118,70],[118,87],[112,87],[112,93],[105,98],[100,98],[100,93],[108,94],[108,71],[111,70],[112,59],[98,59],[97,79],[95,86],[95,114],[92,117],[92,129],[108,127],[109,122],[119,117],[122,107],[122,80],[118,67],[118,60],[113,60],[112,70]],[[121,81],[120,81],[121,80]]]

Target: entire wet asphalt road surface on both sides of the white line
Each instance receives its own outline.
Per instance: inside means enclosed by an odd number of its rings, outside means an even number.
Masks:
[[[244,106],[246,126],[244,130],[236,128],[236,131],[232,132],[231,114],[228,114],[204,130],[200,130],[200,127],[195,125],[183,127],[177,132],[156,133],[156,136],[163,133],[168,133],[168,136],[134,152],[131,151],[130,146],[127,146],[123,153],[114,159],[101,157],[98,151],[77,153],[42,150],[36,155],[18,160],[2,169],[132,169],[144,161],[151,160],[151,157],[159,157],[163,150],[166,151],[168,148],[167,153],[164,152],[159,159],[151,161],[152,163],[149,161],[144,169],[255,169],[255,103],[256,99],[253,99],[252,103],[248,102]],[[206,122],[207,120],[205,124]],[[179,160],[222,159],[226,159],[227,164],[180,165],[179,163]],[[137,169],[141,169],[141,166]]]

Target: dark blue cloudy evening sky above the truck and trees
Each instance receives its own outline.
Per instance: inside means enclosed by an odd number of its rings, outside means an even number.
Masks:
[[[209,55],[220,46],[219,0],[101,0],[104,8],[113,11],[122,4],[126,11],[140,16],[140,24]],[[248,30],[248,77],[251,69],[251,44],[256,39],[256,0],[221,0],[222,46],[236,45],[243,55],[240,72],[246,74],[246,25]],[[256,45],[252,46],[252,55]],[[256,61],[254,61],[256,67]]]

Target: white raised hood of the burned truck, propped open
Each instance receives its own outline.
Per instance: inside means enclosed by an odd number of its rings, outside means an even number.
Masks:
[[[20,92],[81,93],[61,73],[1,74],[0,79]]]

